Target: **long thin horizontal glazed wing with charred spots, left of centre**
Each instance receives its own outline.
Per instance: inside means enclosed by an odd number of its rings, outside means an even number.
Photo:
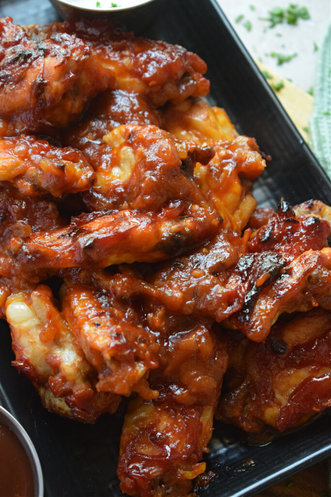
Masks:
[[[215,212],[178,201],[160,213],[124,210],[82,214],[72,218],[66,228],[14,237],[9,250],[17,272],[152,262],[199,245],[219,224]]]

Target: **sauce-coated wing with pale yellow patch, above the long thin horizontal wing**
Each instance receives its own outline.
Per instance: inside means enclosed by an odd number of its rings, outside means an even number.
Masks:
[[[210,147],[179,142],[156,126],[135,124],[118,126],[103,141],[97,150],[85,150],[97,177],[83,195],[90,210],[159,211],[180,199],[213,209],[192,178],[196,162],[206,163],[213,156]]]

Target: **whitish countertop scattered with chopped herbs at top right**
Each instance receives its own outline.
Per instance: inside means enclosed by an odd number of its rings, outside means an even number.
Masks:
[[[308,8],[310,19],[299,19],[297,25],[277,24],[273,28],[269,28],[269,23],[261,18],[268,17],[268,11],[274,7],[288,7],[290,1],[217,1],[254,59],[305,91],[314,86],[318,47],[330,22],[330,0],[304,0],[298,5]],[[239,15],[243,18],[236,22]],[[266,55],[271,52],[297,55],[279,66],[275,58]]]

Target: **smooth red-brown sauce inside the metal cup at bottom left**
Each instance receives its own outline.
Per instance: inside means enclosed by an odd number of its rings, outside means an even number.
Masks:
[[[32,469],[20,441],[0,421],[0,497],[33,497]]]

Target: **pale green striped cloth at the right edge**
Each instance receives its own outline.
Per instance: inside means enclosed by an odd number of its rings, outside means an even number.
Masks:
[[[309,132],[314,153],[331,178],[331,24],[317,62]]]

